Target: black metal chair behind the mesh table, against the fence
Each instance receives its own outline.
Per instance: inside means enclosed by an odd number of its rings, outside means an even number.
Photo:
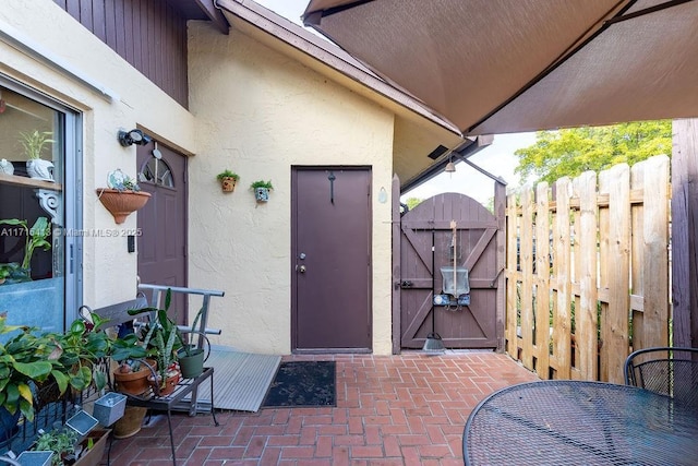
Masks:
[[[625,383],[698,408],[698,348],[638,349],[625,360]]]

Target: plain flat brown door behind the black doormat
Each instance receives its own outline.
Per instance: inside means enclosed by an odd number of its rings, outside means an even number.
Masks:
[[[371,170],[293,168],[296,353],[371,350]]]

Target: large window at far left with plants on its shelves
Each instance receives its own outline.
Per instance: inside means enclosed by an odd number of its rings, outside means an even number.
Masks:
[[[76,113],[0,77],[0,311],[63,331],[76,309],[81,242]],[[70,189],[69,189],[70,188]]]

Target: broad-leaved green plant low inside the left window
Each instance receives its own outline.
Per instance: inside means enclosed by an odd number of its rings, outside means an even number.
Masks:
[[[32,256],[34,255],[34,251],[37,249],[43,249],[44,251],[51,249],[51,243],[47,240],[51,235],[48,218],[38,217],[32,228],[28,227],[27,220],[20,220],[19,218],[0,219],[0,225],[8,225],[11,230],[14,230],[10,232],[10,236],[23,236],[26,238],[22,263],[10,262],[0,264],[0,285],[31,282]]]

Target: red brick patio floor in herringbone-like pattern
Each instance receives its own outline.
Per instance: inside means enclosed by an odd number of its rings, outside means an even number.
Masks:
[[[462,430],[493,391],[537,380],[506,355],[322,355],[337,361],[337,407],[172,418],[183,466],[462,465]],[[116,440],[111,464],[171,465],[167,419]]]

